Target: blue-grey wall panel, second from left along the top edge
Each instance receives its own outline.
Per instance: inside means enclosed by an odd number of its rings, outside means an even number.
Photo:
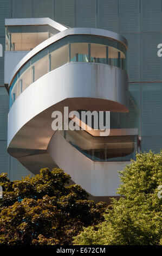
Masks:
[[[33,0],[12,0],[12,18],[31,18],[33,13]]]

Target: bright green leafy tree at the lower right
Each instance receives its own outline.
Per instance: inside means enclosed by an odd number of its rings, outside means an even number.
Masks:
[[[161,244],[162,152],[137,154],[120,173],[121,198],[106,210],[105,221],[84,228],[75,245],[159,245]]]

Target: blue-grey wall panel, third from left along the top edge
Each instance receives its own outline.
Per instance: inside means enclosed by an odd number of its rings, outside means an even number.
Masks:
[[[34,0],[34,18],[49,17],[54,19],[53,0]]]

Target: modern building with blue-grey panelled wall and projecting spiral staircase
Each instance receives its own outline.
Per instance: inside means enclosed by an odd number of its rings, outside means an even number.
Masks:
[[[135,152],[162,148],[161,0],[0,4],[1,172],[58,166],[92,196],[116,196]],[[109,136],[54,131],[51,115],[65,106],[110,111]]]

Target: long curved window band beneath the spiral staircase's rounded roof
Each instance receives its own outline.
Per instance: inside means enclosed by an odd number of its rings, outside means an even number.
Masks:
[[[30,84],[68,62],[102,63],[126,70],[126,47],[101,36],[69,35],[28,60],[10,86],[10,107]]]

